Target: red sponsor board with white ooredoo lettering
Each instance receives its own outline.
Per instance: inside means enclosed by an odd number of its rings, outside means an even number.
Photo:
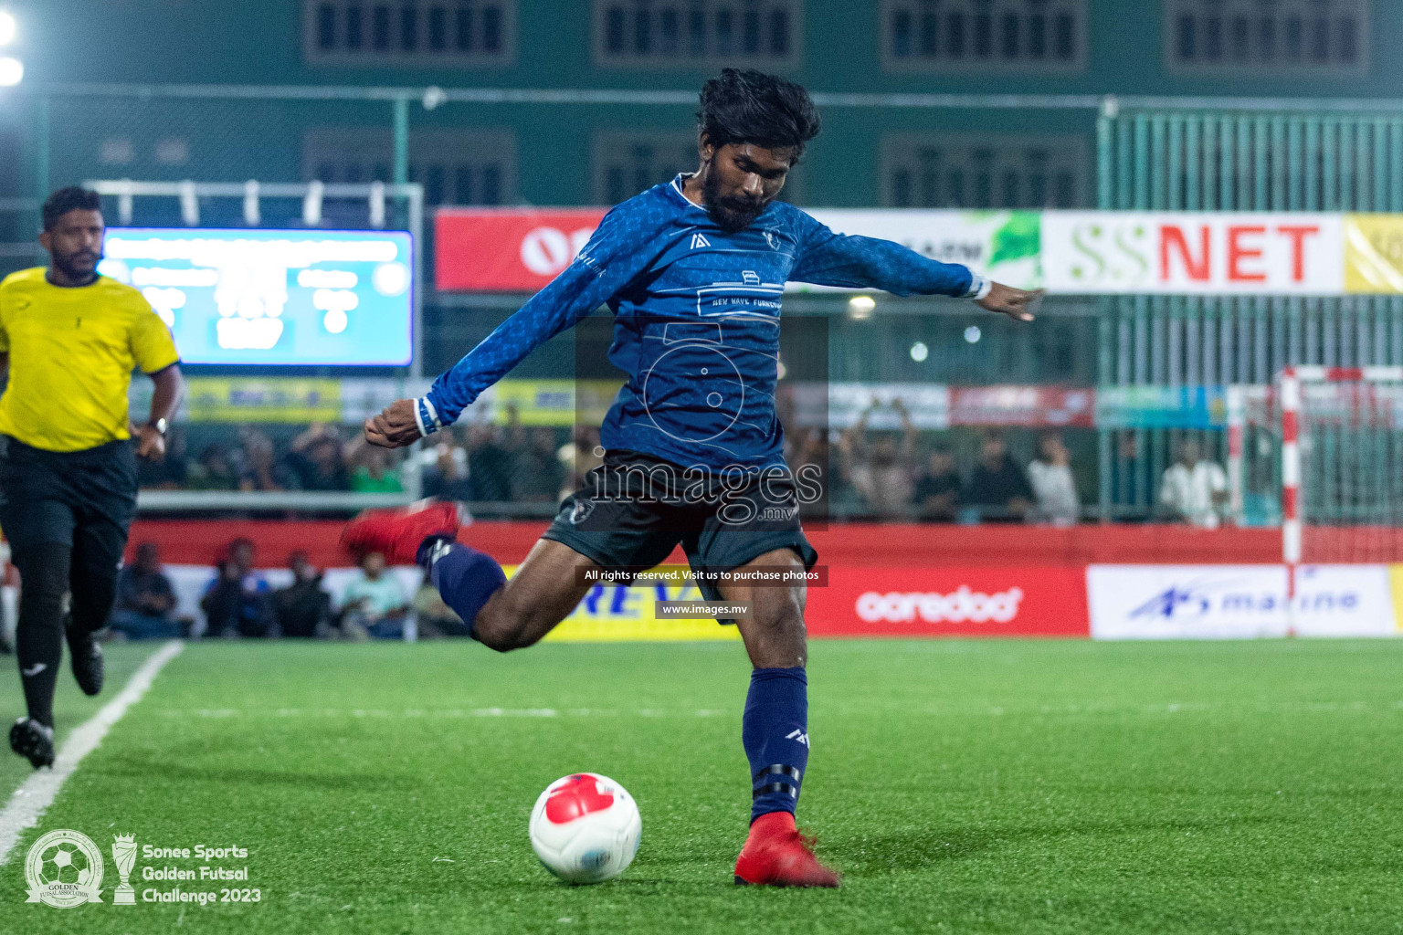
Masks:
[[[831,568],[808,590],[811,636],[1086,636],[1078,566]]]

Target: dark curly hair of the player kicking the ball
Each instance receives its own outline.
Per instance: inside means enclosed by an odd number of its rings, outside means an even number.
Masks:
[[[717,149],[727,143],[791,147],[798,163],[804,144],[818,136],[819,122],[808,91],[793,81],[755,69],[724,69],[702,86],[697,129]]]

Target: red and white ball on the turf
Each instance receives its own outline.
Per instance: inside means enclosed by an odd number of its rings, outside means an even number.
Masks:
[[[643,834],[638,805],[598,772],[556,779],[530,812],[530,845],[567,883],[603,883],[633,864]]]

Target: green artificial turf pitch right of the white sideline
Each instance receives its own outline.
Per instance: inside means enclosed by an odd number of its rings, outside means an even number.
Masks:
[[[800,816],[842,890],[731,883],[737,645],[208,643],[0,868],[0,932],[1403,931],[1403,643],[811,653]],[[643,810],[637,861],[595,887],[526,841],[539,792],[581,770]],[[53,828],[246,847],[223,864],[262,901],[115,907],[108,858],[104,904],[25,904],[24,851]]]

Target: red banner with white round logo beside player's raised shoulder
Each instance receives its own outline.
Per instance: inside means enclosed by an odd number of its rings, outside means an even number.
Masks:
[[[434,283],[443,292],[536,292],[589,236],[603,207],[443,207],[434,217]]]

